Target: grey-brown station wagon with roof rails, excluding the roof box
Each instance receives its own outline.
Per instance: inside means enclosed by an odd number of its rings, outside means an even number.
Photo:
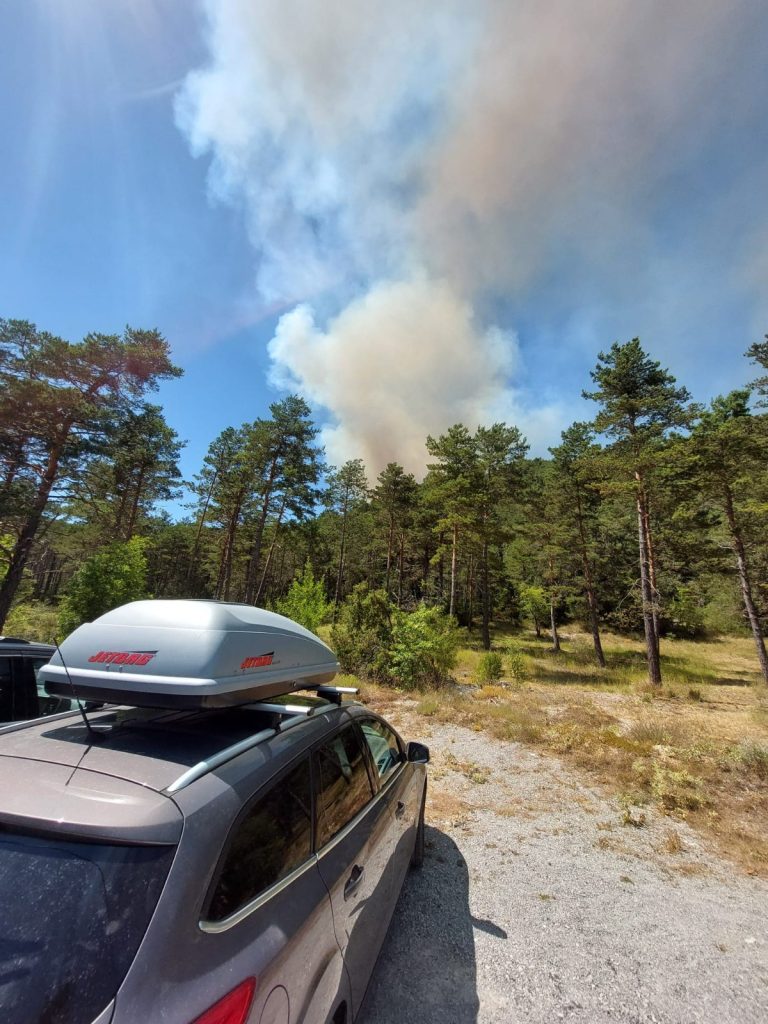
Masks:
[[[0,1020],[354,1020],[424,856],[429,752],[299,705],[0,730]]]

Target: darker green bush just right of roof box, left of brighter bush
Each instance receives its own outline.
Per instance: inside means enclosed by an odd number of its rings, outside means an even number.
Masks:
[[[383,590],[357,584],[331,630],[331,643],[342,671],[364,679],[387,678],[392,612],[392,604]]]

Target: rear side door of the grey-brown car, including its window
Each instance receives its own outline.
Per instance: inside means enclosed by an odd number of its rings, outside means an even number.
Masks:
[[[391,915],[392,817],[375,795],[362,737],[348,722],[314,753],[315,852],[349,975],[352,1014],[366,993]]]

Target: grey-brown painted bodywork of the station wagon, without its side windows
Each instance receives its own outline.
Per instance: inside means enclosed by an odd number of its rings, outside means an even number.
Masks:
[[[251,1024],[262,1014],[288,1024],[286,998],[290,1024],[328,1024],[342,1002],[351,1021],[410,857],[424,767],[403,761],[381,786],[372,773],[367,806],[327,848],[313,851],[229,927],[211,929],[207,901],[244,808],[345,724],[371,713],[348,705],[318,708],[172,794],[168,788],[191,766],[263,731],[273,717],[245,710],[142,714],[89,715],[93,727],[104,730],[101,739],[79,715],[0,733],[0,820],[24,818],[31,827],[37,820],[62,835],[101,828],[112,839],[177,843],[114,1011],[104,1008],[93,1024],[190,1024],[252,977],[258,987]],[[400,803],[407,811],[397,817]],[[344,885],[360,861],[364,883],[344,900]]]

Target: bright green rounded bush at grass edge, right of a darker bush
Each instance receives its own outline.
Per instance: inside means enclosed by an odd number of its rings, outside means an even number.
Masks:
[[[389,672],[407,689],[439,686],[459,653],[460,632],[454,618],[425,605],[394,618]]]

